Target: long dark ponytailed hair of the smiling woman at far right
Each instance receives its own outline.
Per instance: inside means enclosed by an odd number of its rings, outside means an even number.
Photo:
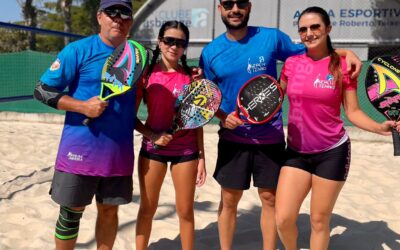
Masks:
[[[304,14],[309,14],[309,13],[318,14],[321,17],[322,22],[325,24],[325,27],[329,27],[331,25],[331,20],[329,18],[328,13],[323,8],[318,6],[308,7],[307,9],[303,10],[303,12],[301,12],[299,16],[299,19],[297,20],[298,21],[297,23],[300,22],[300,18]],[[342,67],[340,64],[340,56],[338,55],[338,53],[336,53],[335,49],[333,48],[331,37],[329,35],[327,38],[327,46],[328,46],[329,56],[331,58],[331,61],[329,63],[329,72],[334,76],[336,84],[339,85],[339,87],[341,88]]]

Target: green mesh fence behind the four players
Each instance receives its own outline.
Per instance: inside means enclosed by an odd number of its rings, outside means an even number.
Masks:
[[[36,82],[40,78],[41,74],[43,74],[43,72],[47,69],[47,67],[50,66],[54,58],[54,54],[40,53],[35,51],[0,54],[0,100],[1,98],[6,97],[32,95]],[[188,61],[188,64],[191,66],[197,66],[198,59],[191,59]],[[382,115],[374,110],[365,93],[364,78],[368,64],[368,61],[364,62],[363,70],[358,77],[359,102],[361,108],[373,119],[382,121]],[[281,68],[280,66],[281,65],[279,65],[279,70]],[[287,110],[286,100],[283,105],[283,110],[284,113]],[[0,102],[0,111],[24,113],[63,113],[62,111],[49,108],[48,106],[33,99]],[[146,108],[144,105],[141,105],[138,116],[141,119],[146,118]],[[285,124],[286,121],[287,119],[285,113]],[[213,122],[215,123],[216,121],[214,120]],[[347,121],[346,124],[351,125]]]

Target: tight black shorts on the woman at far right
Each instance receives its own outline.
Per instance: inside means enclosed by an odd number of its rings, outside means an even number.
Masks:
[[[287,149],[285,166],[300,168],[319,177],[345,181],[350,169],[351,143],[347,140],[336,148],[315,154],[302,154]]]

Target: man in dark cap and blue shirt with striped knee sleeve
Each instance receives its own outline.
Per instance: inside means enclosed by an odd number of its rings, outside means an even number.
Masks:
[[[111,249],[118,229],[118,205],[132,200],[135,92],[99,99],[108,56],[132,27],[131,0],[101,0],[100,33],[73,42],[40,78],[35,97],[66,111],[51,197],[60,205],[56,249],[73,249],[85,206],[96,197],[98,249]],[[68,88],[68,93],[63,91]],[[86,117],[95,118],[89,126]]]

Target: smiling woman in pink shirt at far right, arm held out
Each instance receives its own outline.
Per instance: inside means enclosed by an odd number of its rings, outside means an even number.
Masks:
[[[333,49],[329,16],[319,7],[304,10],[298,22],[306,54],[286,60],[281,85],[289,99],[287,161],[276,193],[276,223],[287,250],[297,249],[296,220],[311,191],[311,249],[328,249],[332,210],[350,166],[350,139],[340,107],[355,126],[390,135],[395,122],[370,119],[359,107],[357,81]],[[400,130],[400,124],[397,124]]]

